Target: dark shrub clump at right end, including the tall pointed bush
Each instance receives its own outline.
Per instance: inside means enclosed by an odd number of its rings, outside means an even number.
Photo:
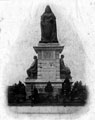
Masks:
[[[82,85],[82,82],[76,81],[75,83],[70,82],[69,79],[65,79],[62,83],[61,95],[63,97],[63,103],[81,103],[85,104],[87,101],[87,87]]]

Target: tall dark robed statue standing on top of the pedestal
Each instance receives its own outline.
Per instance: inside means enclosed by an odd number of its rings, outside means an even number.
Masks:
[[[58,43],[56,18],[47,5],[45,12],[41,16],[41,41],[40,43]]]

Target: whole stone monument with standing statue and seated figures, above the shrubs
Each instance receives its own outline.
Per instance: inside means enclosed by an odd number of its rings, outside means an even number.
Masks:
[[[35,86],[38,92],[45,92],[45,86],[50,82],[55,95],[62,87],[65,78],[71,79],[71,72],[64,64],[64,55],[61,55],[64,46],[61,46],[57,38],[56,17],[50,6],[46,6],[41,16],[41,41],[34,50],[34,62],[27,70],[28,77],[25,80],[27,97]]]

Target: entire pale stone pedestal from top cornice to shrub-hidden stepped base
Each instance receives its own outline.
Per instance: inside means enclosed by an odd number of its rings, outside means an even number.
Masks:
[[[37,79],[26,79],[26,90],[31,94],[31,86],[35,85],[39,92],[44,92],[47,82],[51,82],[54,88],[60,88],[62,79],[60,79],[60,60],[59,55],[64,46],[58,43],[39,43],[34,46],[38,54],[38,72]]]

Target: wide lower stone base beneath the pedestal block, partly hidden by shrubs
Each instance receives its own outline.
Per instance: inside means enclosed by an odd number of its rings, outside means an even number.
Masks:
[[[60,92],[63,81],[64,80],[58,79],[56,80],[56,82],[51,82],[51,85],[53,86],[54,96]],[[47,82],[44,82],[44,80],[41,80],[41,79],[37,79],[37,80],[27,79],[25,84],[26,84],[26,94],[27,94],[26,96],[27,98],[29,98],[29,96],[31,96],[32,94],[32,90],[34,87],[37,88],[38,93],[45,93],[45,87],[47,85]]]

